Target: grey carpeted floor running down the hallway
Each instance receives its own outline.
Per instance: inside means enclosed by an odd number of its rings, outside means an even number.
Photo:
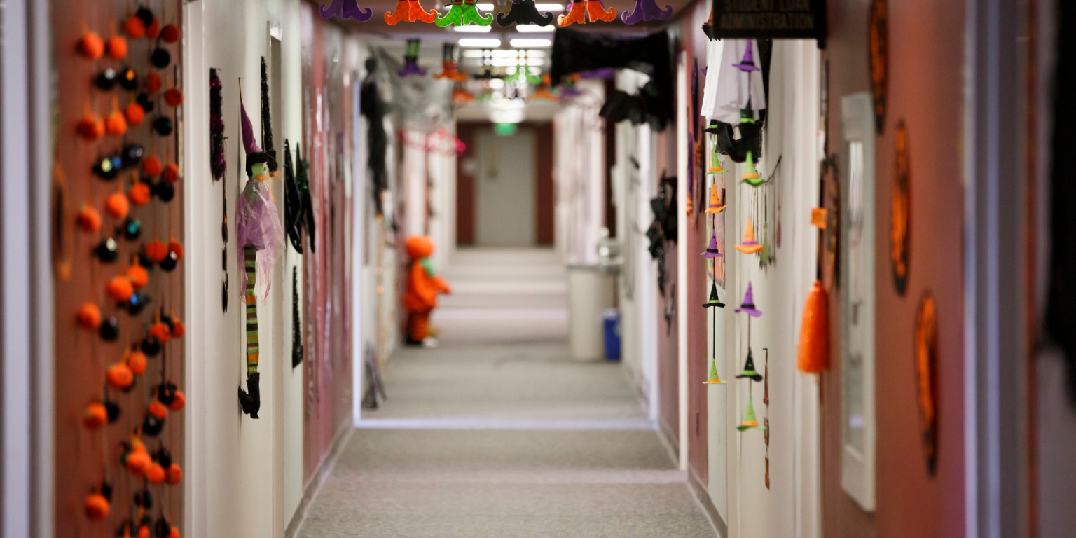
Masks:
[[[563,271],[456,253],[441,346],[392,357],[299,536],[714,535],[620,365],[568,358]]]

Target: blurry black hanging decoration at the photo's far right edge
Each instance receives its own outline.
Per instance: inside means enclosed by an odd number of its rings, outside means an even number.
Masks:
[[[1076,44],[1067,39],[1067,30],[1076,30],[1076,4],[1059,2],[1058,73],[1076,61]],[[1076,132],[1070,127],[1076,122],[1076,80],[1057,76],[1053,87],[1053,166],[1050,171],[1050,277],[1046,305],[1046,330],[1061,346],[1068,369],[1068,395],[1076,405],[1076,220],[1072,208],[1076,203]]]

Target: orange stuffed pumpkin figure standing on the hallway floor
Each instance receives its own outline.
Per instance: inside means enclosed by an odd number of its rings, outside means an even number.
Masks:
[[[438,294],[451,294],[444,279],[434,274],[429,256],[434,253],[434,241],[425,236],[411,236],[405,244],[410,261],[407,270],[407,293],[404,295],[404,310],[407,311],[407,344],[437,346],[437,340],[429,337],[429,313],[437,308]]]

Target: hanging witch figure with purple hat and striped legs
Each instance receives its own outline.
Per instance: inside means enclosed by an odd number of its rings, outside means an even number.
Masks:
[[[268,96],[263,96],[267,99]],[[251,118],[243,107],[242,89],[239,98],[240,122],[243,131],[243,150],[246,153],[246,185],[236,202],[236,237],[240,264],[243,298],[246,303],[246,391],[239,388],[239,405],[251,419],[258,417],[261,392],[258,373],[258,294],[256,283],[263,281],[261,299],[269,293],[273,263],[284,249],[284,230],[277,213],[266,180],[270,164],[275,162],[272,152],[263,151],[254,138]],[[268,127],[266,127],[268,129]],[[268,131],[266,131],[268,132]]]

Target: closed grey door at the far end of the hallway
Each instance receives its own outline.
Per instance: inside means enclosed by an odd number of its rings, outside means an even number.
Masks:
[[[478,136],[479,174],[475,185],[476,244],[535,244],[535,134],[519,129]]]

